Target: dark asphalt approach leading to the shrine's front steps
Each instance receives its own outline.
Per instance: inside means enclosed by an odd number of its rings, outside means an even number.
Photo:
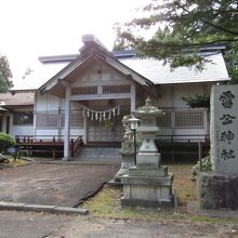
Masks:
[[[0,170],[0,200],[75,207],[117,172],[115,166],[31,163]]]

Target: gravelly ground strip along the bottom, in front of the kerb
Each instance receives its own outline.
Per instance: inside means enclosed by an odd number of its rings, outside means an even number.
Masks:
[[[238,225],[186,221],[108,220],[0,211],[1,238],[228,238]]]

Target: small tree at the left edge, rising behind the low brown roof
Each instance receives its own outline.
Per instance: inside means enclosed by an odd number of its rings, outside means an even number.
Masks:
[[[8,92],[12,87],[12,72],[9,61],[4,55],[0,55],[0,92]]]

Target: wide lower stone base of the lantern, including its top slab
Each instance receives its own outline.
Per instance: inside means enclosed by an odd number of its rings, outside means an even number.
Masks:
[[[123,184],[122,207],[172,207],[173,174],[167,167],[159,169],[130,168],[121,178]]]

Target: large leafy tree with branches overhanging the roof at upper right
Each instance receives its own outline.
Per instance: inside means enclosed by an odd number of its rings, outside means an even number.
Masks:
[[[169,62],[171,68],[195,65],[202,70],[208,60],[199,49],[224,44],[229,76],[238,83],[237,0],[151,0],[143,11],[147,16],[116,26],[115,48],[133,48],[140,55]],[[137,34],[151,28],[157,30],[149,40]]]

